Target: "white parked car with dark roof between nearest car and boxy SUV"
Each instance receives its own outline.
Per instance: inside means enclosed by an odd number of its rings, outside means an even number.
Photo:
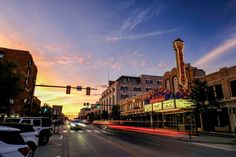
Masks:
[[[33,125],[22,124],[22,123],[0,123],[0,126],[8,126],[12,128],[17,128],[20,130],[20,134],[23,137],[25,143],[30,147],[31,157],[34,156],[34,152],[38,146],[38,132],[33,128]]]

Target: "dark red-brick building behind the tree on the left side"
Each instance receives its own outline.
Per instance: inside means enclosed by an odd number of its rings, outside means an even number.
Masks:
[[[15,71],[21,75],[23,91],[12,101],[12,115],[30,115],[33,104],[37,67],[28,51],[0,48],[0,60],[13,62]]]

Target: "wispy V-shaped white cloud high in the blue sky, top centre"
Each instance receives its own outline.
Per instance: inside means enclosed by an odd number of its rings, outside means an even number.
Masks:
[[[126,9],[125,12],[129,12],[129,15],[121,22],[122,24],[119,30],[116,33],[114,33],[114,35],[105,37],[105,40],[106,41],[132,40],[132,39],[147,38],[151,36],[157,36],[177,31],[177,29],[171,29],[171,30],[148,32],[138,35],[127,35],[136,27],[143,24],[144,21],[148,20],[152,16],[159,15],[159,13],[165,9],[164,5],[159,1],[155,2],[149,1],[148,3],[149,3],[148,6],[140,6],[138,8],[137,6],[132,7],[134,1],[130,3],[124,3],[124,8]]]

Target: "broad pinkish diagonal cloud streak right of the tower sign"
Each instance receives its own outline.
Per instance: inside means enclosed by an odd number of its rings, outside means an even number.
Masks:
[[[236,47],[236,38],[226,40],[224,43],[222,43],[215,49],[208,52],[205,56],[197,60],[193,65],[194,66],[207,65],[209,64],[209,62],[228,53],[230,49],[235,48],[235,47]]]

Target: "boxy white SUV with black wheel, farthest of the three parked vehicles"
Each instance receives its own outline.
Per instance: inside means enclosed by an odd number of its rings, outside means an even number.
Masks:
[[[52,136],[51,119],[46,117],[18,117],[6,118],[5,122],[17,122],[33,125],[33,128],[38,132],[39,144],[45,145]]]

